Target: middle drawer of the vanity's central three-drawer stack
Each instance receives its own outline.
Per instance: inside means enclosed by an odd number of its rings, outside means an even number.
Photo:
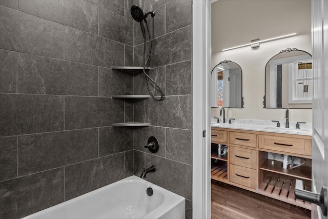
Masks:
[[[256,150],[230,146],[229,156],[231,164],[256,169]]]

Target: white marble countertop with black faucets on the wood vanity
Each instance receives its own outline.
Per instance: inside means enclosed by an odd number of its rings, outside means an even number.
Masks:
[[[284,128],[284,122],[280,123],[280,127],[276,127],[276,123],[265,120],[233,120],[232,124],[228,124],[229,118],[226,120],[227,123],[216,121],[214,118],[211,119],[212,127],[312,136],[312,123],[300,124],[300,129],[296,129],[296,122],[290,122],[290,128]]]

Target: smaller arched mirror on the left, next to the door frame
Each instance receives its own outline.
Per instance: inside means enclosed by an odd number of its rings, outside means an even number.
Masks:
[[[242,71],[237,63],[224,60],[213,68],[211,106],[243,108]]]

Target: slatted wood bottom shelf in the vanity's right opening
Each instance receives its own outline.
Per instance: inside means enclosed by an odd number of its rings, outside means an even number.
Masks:
[[[305,190],[311,191],[311,186],[304,186]],[[295,182],[284,180],[268,175],[258,188],[258,192],[263,195],[271,196],[283,202],[297,205],[311,210],[311,204],[295,199]]]

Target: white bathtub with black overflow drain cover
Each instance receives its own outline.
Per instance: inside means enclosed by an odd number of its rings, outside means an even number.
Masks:
[[[153,195],[147,195],[147,188]],[[137,176],[86,193],[24,219],[182,219],[185,198]]]

